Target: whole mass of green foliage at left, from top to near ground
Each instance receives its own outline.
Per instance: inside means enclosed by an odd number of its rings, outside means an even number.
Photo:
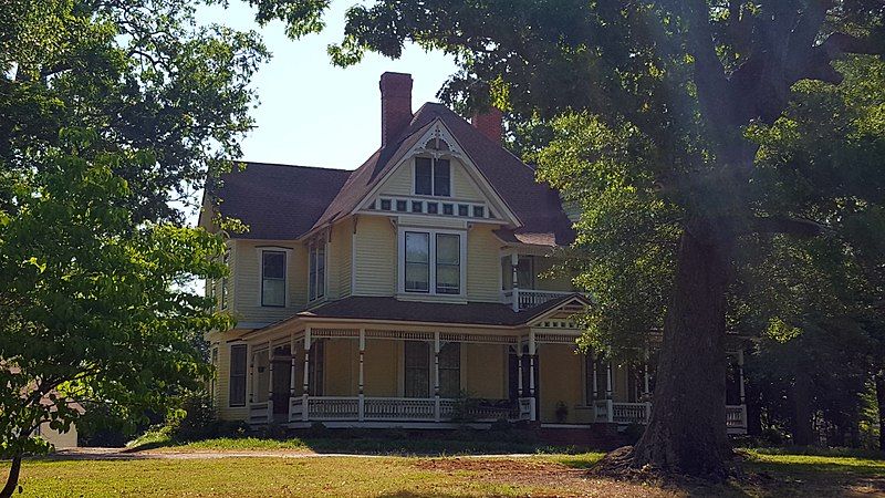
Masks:
[[[194,13],[0,4],[1,457],[48,450],[35,427],[67,430],[76,401],[132,430],[211,373],[201,336],[232,320],[190,289],[227,274],[225,243],[179,208],[240,155],[268,54]]]

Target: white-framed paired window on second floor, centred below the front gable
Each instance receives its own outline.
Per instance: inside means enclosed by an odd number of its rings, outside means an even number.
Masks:
[[[460,295],[465,235],[406,230],[402,238],[403,290]]]

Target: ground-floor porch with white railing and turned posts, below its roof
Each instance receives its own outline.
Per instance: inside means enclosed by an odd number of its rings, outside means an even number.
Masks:
[[[283,326],[285,325],[285,326]],[[562,317],[531,326],[288,323],[248,338],[248,422],[291,428],[645,424],[653,360],[576,352]],[[747,427],[742,354],[730,355],[729,433]]]

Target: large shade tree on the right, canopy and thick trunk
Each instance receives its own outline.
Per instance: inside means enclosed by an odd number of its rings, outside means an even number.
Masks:
[[[310,31],[315,15],[288,21]],[[409,41],[444,50],[460,64],[445,97],[555,120],[539,174],[584,208],[577,246],[593,264],[581,280],[601,298],[591,329],[626,345],[664,329],[648,428],[605,467],[720,478],[725,335],[743,261],[780,237],[847,236],[837,209],[879,203],[885,175],[863,136],[881,137],[881,101],[844,80],[858,56],[855,81],[873,81],[883,21],[878,0],[377,0],[351,8],[330,54],[347,65],[365,51],[399,56]],[[796,137],[791,122],[815,98],[861,115]],[[805,145],[821,163],[799,154]]]

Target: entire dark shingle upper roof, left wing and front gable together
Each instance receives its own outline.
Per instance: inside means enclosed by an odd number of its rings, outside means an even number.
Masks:
[[[244,172],[223,177],[218,190],[221,214],[249,225],[251,231],[238,237],[252,239],[294,239],[334,222],[365,198],[437,118],[523,224],[516,230],[498,230],[498,237],[539,246],[568,246],[574,240],[559,195],[535,181],[534,169],[445,105],[434,103],[423,105],[398,139],[353,172],[247,163]]]

